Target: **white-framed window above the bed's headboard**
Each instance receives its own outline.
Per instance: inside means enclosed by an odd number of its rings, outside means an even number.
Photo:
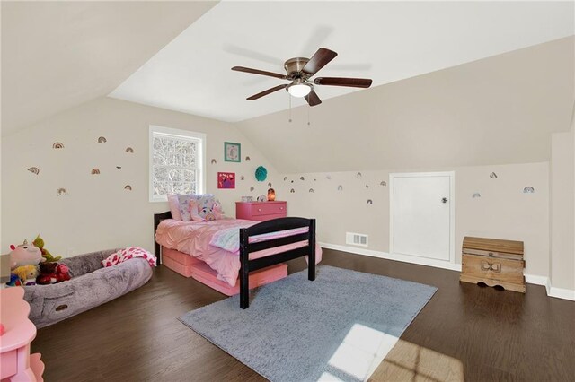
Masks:
[[[203,194],[206,135],[150,126],[150,202],[167,194]]]

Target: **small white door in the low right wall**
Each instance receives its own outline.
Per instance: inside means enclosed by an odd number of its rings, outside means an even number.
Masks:
[[[450,261],[453,173],[391,174],[390,252]]]

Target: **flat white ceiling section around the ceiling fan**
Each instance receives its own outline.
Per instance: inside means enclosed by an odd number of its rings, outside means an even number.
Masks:
[[[245,100],[284,82],[234,65],[283,73],[288,58],[324,47],[339,56],[320,76],[377,86],[572,34],[572,2],[222,2],[110,95],[241,121],[288,109],[288,95]],[[316,89],[323,100],[351,91]]]

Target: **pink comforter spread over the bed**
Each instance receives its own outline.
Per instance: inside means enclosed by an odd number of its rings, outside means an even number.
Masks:
[[[176,221],[167,219],[161,221],[155,232],[155,241],[161,246],[176,249],[184,254],[190,254],[203,261],[217,272],[217,279],[235,286],[240,271],[240,257],[237,252],[213,247],[209,242],[219,230],[250,227],[259,221],[240,219],[222,219],[217,221]],[[270,248],[265,251],[250,254],[250,258],[269,256],[285,252],[296,247],[305,247],[307,241],[289,244],[287,246]],[[322,248],[316,246],[315,263],[322,260]]]

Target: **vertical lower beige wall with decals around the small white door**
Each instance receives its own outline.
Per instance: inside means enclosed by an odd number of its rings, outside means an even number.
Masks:
[[[389,187],[380,183],[385,181],[389,185],[391,172],[432,170],[456,172],[456,263],[461,263],[464,236],[521,240],[525,242],[525,272],[549,274],[548,162],[287,174],[278,177],[281,180],[276,191],[279,199],[288,201],[290,215],[317,218],[319,241],[345,246],[345,232],[365,233],[369,235],[367,249],[386,253]],[[498,178],[490,178],[491,172]],[[283,180],[284,177],[288,180]],[[338,191],[340,185],[342,191]],[[535,193],[524,194],[526,186],[534,187]],[[295,193],[290,192],[292,188]],[[472,198],[476,192],[482,196]],[[367,199],[373,204],[367,204]]]

